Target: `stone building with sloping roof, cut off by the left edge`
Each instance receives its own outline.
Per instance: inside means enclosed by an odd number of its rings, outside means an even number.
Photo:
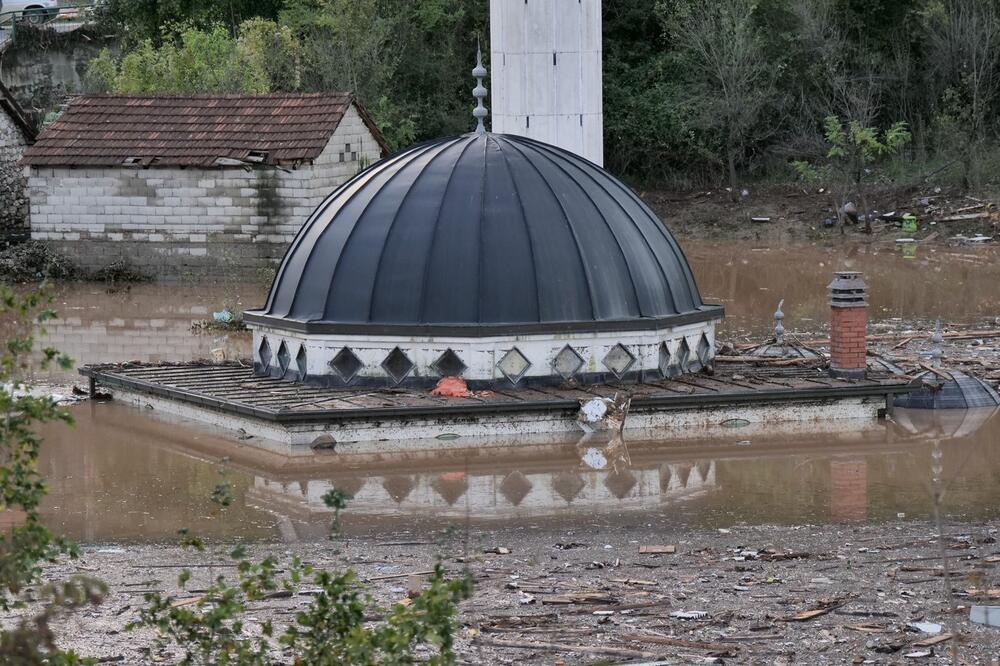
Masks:
[[[27,235],[27,183],[20,160],[35,140],[35,128],[21,105],[0,83],[0,243]]]

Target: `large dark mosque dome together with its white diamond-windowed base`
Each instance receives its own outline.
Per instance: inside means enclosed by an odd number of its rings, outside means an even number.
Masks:
[[[494,386],[696,371],[722,314],[628,187],[573,153],[483,131],[335,190],[244,319],[260,374]]]

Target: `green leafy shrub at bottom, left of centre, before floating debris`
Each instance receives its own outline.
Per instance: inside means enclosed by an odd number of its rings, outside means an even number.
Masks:
[[[230,506],[235,499],[231,483],[223,479],[211,499],[220,511]],[[350,499],[336,488],[323,496],[333,510],[331,536],[339,533],[340,514]],[[200,539],[186,534],[184,543],[199,552],[204,550]],[[235,582],[218,576],[199,596],[187,599],[149,593],[148,606],[128,628],[155,630],[161,646],[174,645],[183,651],[181,663],[185,665],[265,666],[279,646],[295,664],[303,666],[411,664],[414,650],[421,644],[437,648],[423,663],[455,663],[456,604],[468,597],[471,584],[468,577],[445,580],[440,563],[434,567],[427,589],[374,617],[369,614],[376,608],[374,599],[364,593],[350,570],[318,569],[294,557],[288,572],[279,576],[278,562],[272,557],[252,561],[242,546],[230,557],[236,562]],[[190,579],[191,571],[185,569],[178,577],[178,586],[183,589]],[[250,603],[291,595],[306,581],[314,586],[312,600],[280,635],[271,622],[245,619]]]

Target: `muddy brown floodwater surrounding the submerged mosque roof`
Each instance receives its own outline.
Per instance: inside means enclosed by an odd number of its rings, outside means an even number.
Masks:
[[[826,285],[843,269],[865,273],[875,327],[937,317],[975,325],[1000,314],[994,248],[920,247],[905,258],[884,245],[683,246],[705,300],[726,306],[722,339],[766,335],[780,299],[789,331],[822,331]],[[81,364],[191,360],[218,348],[246,357],[248,334],[191,327],[223,307],[260,304],[266,287],[149,284],[108,293],[63,285],[62,319],[49,327],[49,343]],[[44,379],[81,383],[75,375]],[[465,521],[716,528],[926,518],[935,439],[946,513],[962,521],[1000,515],[1000,417],[982,414],[944,423],[903,414],[899,423],[811,435],[775,430],[750,440],[736,428],[723,440],[630,442],[624,455],[592,442],[549,441],[364,458],[282,457],[116,404],[74,412],[75,428],[44,432],[45,513],[58,531],[88,543],[170,540],[181,528],[217,540],[321,538],[330,519],[321,497],[331,486],[355,495],[346,527],[357,533]],[[209,501],[223,481],[236,499],[224,515]]]

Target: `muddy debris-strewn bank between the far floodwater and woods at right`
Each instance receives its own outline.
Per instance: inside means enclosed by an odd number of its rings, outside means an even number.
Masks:
[[[680,238],[766,240],[780,242],[838,240],[895,240],[913,237],[921,242],[948,242],[957,235],[1000,237],[1000,196],[967,195],[957,189],[872,188],[872,235],[864,224],[836,224],[838,204],[826,188],[797,185],[760,185],[733,201],[725,189],[693,192],[639,191],[642,199]],[[854,202],[858,208],[860,203]],[[883,218],[885,214],[892,214]],[[904,213],[916,216],[917,233],[904,233]],[[755,221],[756,220],[756,221]],[[828,222],[829,221],[829,222]],[[834,222],[833,226],[827,226]]]

